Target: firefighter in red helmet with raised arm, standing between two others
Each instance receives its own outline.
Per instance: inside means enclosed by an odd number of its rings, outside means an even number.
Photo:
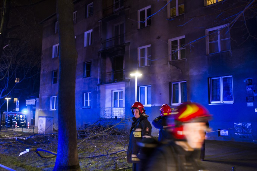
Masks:
[[[170,116],[172,110],[168,104],[163,104],[160,108],[160,116],[156,117],[152,124],[155,128],[159,129],[158,141],[164,141],[171,138],[170,134],[166,131],[167,117]]]

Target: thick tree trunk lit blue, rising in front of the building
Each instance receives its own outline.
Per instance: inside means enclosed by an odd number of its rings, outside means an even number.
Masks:
[[[58,149],[53,170],[81,170],[78,162],[75,81],[78,54],[75,48],[72,0],[57,0],[59,23]]]

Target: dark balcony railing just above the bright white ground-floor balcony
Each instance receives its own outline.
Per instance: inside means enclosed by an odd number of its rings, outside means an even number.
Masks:
[[[109,82],[117,82],[122,81],[124,79],[125,70],[116,70],[109,73],[103,73],[101,77],[101,82],[109,83]]]

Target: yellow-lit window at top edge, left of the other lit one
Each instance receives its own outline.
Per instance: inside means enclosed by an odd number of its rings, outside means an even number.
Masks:
[[[167,5],[167,7],[168,7],[168,18],[175,17],[185,13],[184,0],[172,0]]]

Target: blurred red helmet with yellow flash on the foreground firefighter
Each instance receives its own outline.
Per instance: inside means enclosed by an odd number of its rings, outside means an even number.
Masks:
[[[201,104],[195,102],[182,103],[174,116],[176,127],[173,128],[172,135],[175,139],[185,139],[183,135],[183,123],[208,122],[211,119],[209,111]]]

